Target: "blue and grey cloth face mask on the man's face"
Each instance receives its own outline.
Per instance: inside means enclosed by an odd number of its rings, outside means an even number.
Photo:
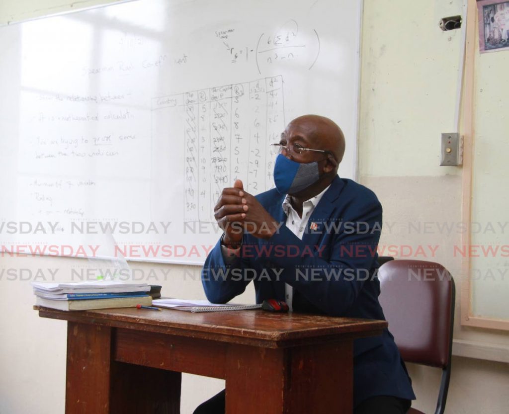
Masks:
[[[318,161],[292,161],[279,154],[274,164],[274,183],[281,194],[295,194],[316,183],[320,179]]]

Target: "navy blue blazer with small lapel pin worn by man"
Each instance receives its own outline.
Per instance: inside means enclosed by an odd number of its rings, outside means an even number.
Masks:
[[[285,300],[288,283],[294,311],[385,319],[376,277],[382,206],[374,192],[336,176],[309,217],[302,240],[285,225],[284,198],[276,189],[257,196],[281,225],[270,239],[244,234],[240,257],[229,264],[217,242],[202,270],[207,298],[228,302],[253,280],[257,303]],[[377,395],[415,399],[387,329],[381,336],[354,341],[354,406]]]

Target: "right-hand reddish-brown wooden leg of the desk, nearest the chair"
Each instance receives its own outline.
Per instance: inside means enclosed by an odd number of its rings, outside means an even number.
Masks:
[[[352,414],[352,405],[352,341],[229,349],[226,414]]]

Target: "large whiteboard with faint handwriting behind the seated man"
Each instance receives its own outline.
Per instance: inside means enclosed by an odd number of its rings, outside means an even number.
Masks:
[[[201,264],[221,189],[272,188],[304,114],[341,126],[355,178],[360,15],[139,0],[2,27],[2,250]]]

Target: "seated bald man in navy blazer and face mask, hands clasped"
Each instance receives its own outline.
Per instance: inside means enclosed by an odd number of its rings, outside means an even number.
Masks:
[[[207,298],[228,302],[253,279],[257,303],[275,298],[295,312],[385,319],[376,277],[382,206],[371,190],[337,176],[345,152],[341,129],[306,115],[290,122],[279,148],[275,189],[253,197],[237,180],[222,191],[214,212],[224,234],[202,271]],[[227,268],[249,271],[228,277]],[[220,269],[226,277],[213,276]],[[223,414],[224,396],[194,413]],[[403,414],[414,398],[387,329],[354,341],[355,414]]]

